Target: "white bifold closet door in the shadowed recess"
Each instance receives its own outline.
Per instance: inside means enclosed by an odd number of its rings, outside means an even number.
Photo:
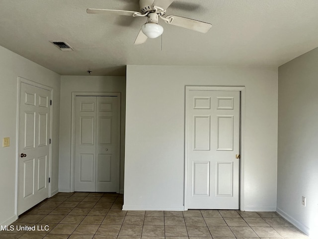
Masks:
[[[119,192],[118,97],[76,97],[75,191]]]

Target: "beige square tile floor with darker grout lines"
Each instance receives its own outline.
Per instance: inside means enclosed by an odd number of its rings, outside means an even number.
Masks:
[[[122,205],[123,196],[115,193],[58,193],[21,215],[0,239],[307,238],[275,212],[122,211]]]

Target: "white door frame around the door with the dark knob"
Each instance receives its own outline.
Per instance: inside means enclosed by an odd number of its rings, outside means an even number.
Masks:
[[[18,173],[19,173],[19,112],[20,112],[20,95],[21,95],[21,84],[28,84],[34,87],[38,87],[44,90],[48,90],[50,91],[50,97],[51,97],[51,101],[52,101],[52,105],[50,107],[50,135],[49,138],[52,140],[52,134],[53,134],[53,88],[46,86],[46,85],[42,85],[40,83],[34,82],[34,81],[30,81],[28,79],[25,79],[23,77],[18,77],[18,89],[17,89],[17,116],[16,116],[16,158],[15,158],[15,215],[16,218],[18,218]],[[49,178],[51,178],[52,175],[52,143],[50,143],[50,152],[49,152]],[[49,193],[48,193],[48,198],[52,196],[52,192],[51,192],[51,183],[49,183]]]

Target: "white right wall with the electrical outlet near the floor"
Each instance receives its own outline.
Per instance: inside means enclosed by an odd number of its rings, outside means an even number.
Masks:
[[[277,210],[311,234],[318,228],[317,62],[318,48],[278,70]]]

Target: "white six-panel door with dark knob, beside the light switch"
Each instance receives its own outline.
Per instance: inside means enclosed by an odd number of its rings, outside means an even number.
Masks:
[[[49,196],[50,99],[50,91],[21,82],[18,215]]]

